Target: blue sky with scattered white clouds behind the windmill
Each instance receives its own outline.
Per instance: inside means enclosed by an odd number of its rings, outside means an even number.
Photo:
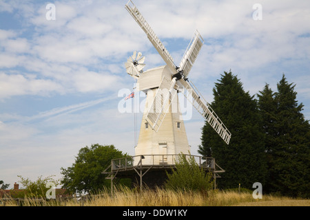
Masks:
[[[46,19],[55,5],[56,20]],[[125,10],[127,1],[0,1],[0,179],[61,177],[83,146],[114,144],[134,155],[134,114],[119,113],[134,80],[124,63],[134,50],[145,69],[161,56]],[[220,74],[238,75],[255,95],[285,74],[310,119],[310,2],[280,0],[134,1],[179,63],[198,29],[205,39],[189,79],[208,102]],[[262,5],[254,20],[253,5]],[[141,113],[138,115],[141,118]],[[140,122],[138,122],[139,124]],[[198,155],[204,120],[186,121]]]

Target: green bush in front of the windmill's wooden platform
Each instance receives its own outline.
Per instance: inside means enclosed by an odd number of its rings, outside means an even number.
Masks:
[[[194,157],[178,156],[176,169],[167,173],[165,187],[172,190],[193,190],[207,192],[213,187],[211,173],[206,173],[200,168]]]

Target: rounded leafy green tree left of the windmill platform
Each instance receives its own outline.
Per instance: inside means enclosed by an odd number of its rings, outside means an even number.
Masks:
[[[68,168],[61,168],[63,188],[72,193],[96,192],[105,187],[110,187],[110,180],[101,174],[110,166],[111,159],[127,157],[118,151],[114,145],[85,146],[80,149],[75,162]]]

